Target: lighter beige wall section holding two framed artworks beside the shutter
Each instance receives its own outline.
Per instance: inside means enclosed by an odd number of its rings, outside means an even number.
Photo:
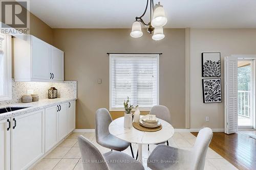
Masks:
[[[190,125],[224,128],[224,57],[256,55],[256,29],[190,29]],[[201,53],[221,52],[222,103],[204,104]],[[209,116],[209,122],[205,122]]]

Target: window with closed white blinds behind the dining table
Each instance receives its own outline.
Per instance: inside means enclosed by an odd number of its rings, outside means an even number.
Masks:
[[[123,110],[127,96],[140,110],[159,104],[159,55],[110,54],[110,110]]]

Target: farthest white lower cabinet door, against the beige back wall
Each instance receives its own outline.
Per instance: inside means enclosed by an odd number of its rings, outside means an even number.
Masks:
[[[68,103],[68,133],[76,128],[76,101]]]

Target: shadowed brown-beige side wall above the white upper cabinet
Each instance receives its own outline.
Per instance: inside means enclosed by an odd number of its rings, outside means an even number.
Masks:
[[[53,29],[30,13],[30,34],[49,43],[53,43]]]

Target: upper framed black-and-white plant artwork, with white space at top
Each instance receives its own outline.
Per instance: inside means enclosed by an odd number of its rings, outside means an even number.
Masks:
[[[221,77],[221,53],[202,53],[202,77]]]

